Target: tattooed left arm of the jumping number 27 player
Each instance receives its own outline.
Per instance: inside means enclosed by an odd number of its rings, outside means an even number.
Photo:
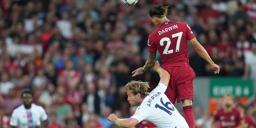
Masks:
[[[156,53],[148,53],[148,60],[146,62],[146,64],[143,67],[140,67],[136,70],[134,70],[132,72],[132,76],[137,76],[140,74],[143,74],[144,72],[146,72],[147,70],[149,70],[151,67],[154,66],[154,62],[156,60]]]

